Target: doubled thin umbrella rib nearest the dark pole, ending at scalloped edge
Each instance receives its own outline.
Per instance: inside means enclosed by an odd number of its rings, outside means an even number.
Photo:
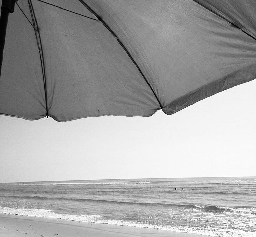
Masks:
[[[31,0],[28,0],[29,10],[32,17],[32,22],[34,25],[35,30],[35,37],[37,39],[37,46],[39,50],[39,56],[40,56],[40,63],[41,63],[41,69],[43,74],[43,82],[44,82],[44,96],[45,96],[45,105],[46,105],[46,117],[48,118],[48,101],[47,101],[47,90],[46,90],[46,73],[45,73],[45,63],[44,63],[44,54],[43,54],[43,48],[42,48],[42,41],[41,36],[37,24],[37,19],[35,18],[35,12],[32,5]]]

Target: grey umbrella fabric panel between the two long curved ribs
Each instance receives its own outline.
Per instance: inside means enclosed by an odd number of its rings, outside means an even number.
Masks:
[[[151,116],[160,105],[100,21],[32,1],[45,56],[49,116]],[[79,1],[48,1],[95,18]]]

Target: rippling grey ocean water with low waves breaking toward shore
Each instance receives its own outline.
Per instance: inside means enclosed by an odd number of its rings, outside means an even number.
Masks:
[[[256,177],[0,183],[0,212],[256,237]]]

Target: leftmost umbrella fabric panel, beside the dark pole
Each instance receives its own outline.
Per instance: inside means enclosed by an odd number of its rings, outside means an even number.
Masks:
[[[19,1],[19,5],[31,20],[28,2]],[[17,6],[8,18],[0,79],[0,114],[28,120],[46,115],[43,76],[34,29]]]

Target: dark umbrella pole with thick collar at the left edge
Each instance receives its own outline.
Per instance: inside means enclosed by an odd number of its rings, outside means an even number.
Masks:
[[[1,6],[1,17],[0,17],[0,77],[3,62],[3,49],[5,43],[5,35],[7,29],[8,15],[14,12],[15,0],[3,0]]]

